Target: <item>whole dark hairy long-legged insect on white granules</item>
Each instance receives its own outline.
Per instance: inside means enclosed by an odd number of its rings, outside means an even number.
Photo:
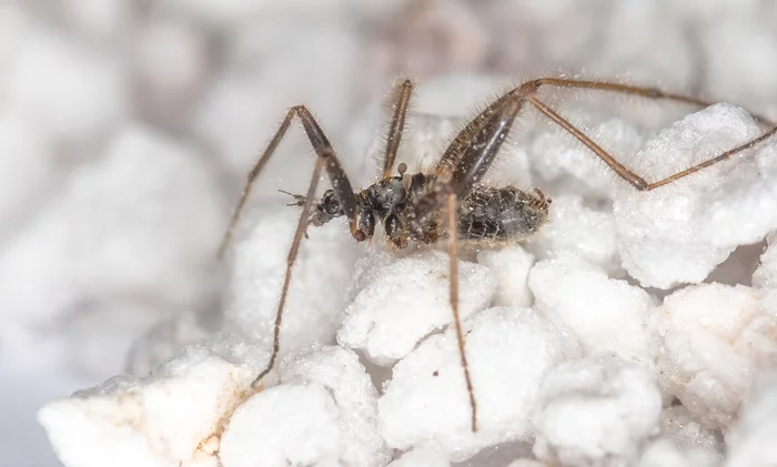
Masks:
[[[304,105],[296,105],[289,110],[268,148],[248,174],[240,201],[219,251],[220,256],[222,256],[229,247],[254,181],[275,152],[292,120],[297,118],[315,151],[316,162],[307,193],[305,195],[292,194],[294,203],[291,205],[301,206],[302,212],[289,251],[283,288],[273,328],[272,354],[268,366],[255,378],[254,388],[259,387],[261,380],[275,365],[280,351],[280,331],[289,285],[292,280],[292,268],[307,225],[320,226],[333,219],[344,216],[353,238],[356,242],[364,242],[373,237],[376,224],[381,223],[387,241],[397,248],[404,248],[410,243],[434,244],[442,238],[447,241],[451,256],[450,303],[453,311],[453,325],[462,370],[470,398],[471,426],[472,430],[475,432],[477,430],[477,404],[470,378],[464,335],[458,318],[457,245],[460,240],[519,242],[537,232],[548,220],[551,200],[542,191],[524,192],[514,186],[492,187],[480,183],[498,154],[516,115],[523,108],[528,105],[535,108],[541,114],[588,148],[620,179],[639,191],[650,191],[668,185],[750,149],[777,133],[777,125],[771,126],[761,135],[705,162],[665,179],[647,182],[544,103],[538,91],[545,87],[598,90],[653,100],[674,101],[700,108],[710,104],[695,98],[655,88],[605,81],[539,78],[524,82],[502,94],[466,123],[448,144],[432,171],[411,174],[407,173],[407,165],[404,163],[398,164],[396,171],[394,169],[413,92],[413,83],[410,80],[403,80],[396,89],[394,113],[384,150],[382,175],[376,182],[360,192],[353,191],[351,181],[343,171],[332,144],[310,111]],[[756,119],[760,120],[761,123],[766,122],[765,119],[758,116]],[[314,201],[322,171],[326,171],[332,187],[326,190],[319,201]]]

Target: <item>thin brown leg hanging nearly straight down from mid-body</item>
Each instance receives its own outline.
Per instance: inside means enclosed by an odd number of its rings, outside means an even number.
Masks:
[[[462,322],[458,316],[458,221],[456,219],[456,195],[447,195],[447,235],[448,235],[448,258],[451,263],[451,308],[453,309],[453,325],[456,329],[456,343],[458,344],[458,354],[462,358],[462,369],[464,370],[464,382],[466,390],[470,395],[470,407],[472,409],[472,432],[477,432],[477,403],[475,400],[475,390],[472,386],[470,377],[470,364],[466,359],[466,348],[464,343],[464,333],[462,332]]]

